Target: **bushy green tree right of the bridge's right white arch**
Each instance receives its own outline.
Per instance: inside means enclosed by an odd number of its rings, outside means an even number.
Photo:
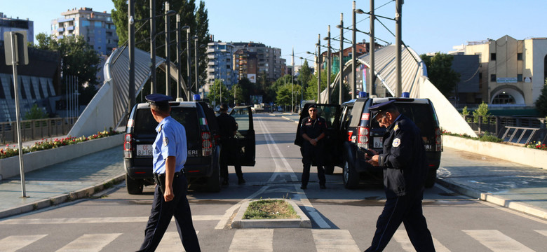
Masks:
[[[437,52],[435,56],[430,57],[425,54],[420,55],[427,68],[427,76],[431,83],[445,96],[453,96],[452,91],[459,82],[460,73],[452,69],[452,55]]]

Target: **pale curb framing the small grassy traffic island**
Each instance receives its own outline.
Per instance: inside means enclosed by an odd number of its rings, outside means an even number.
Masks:
[[[243,214],[249,207],[252,201],[241,204],[241,207],[231,223],[231,228],[311,228],[311,221],[304,211],[300,209],[292,200],[287,199],[269,199],[269,200],[285,200],[297,212],[300,218],[295,219],[263,219],[263,220],[243,220]]]

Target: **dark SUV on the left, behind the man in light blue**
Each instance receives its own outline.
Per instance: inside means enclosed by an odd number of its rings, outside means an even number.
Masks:
[[[205,102],[170,102],[171,117],[184,125],[187,137],[188,156],[184,172],[191,185],[204,185],[211,192],[220,191],[220,150],[215,112]],[[250,108],[238,107],[238,130],[243,148],[241,159],[255,160],[255,131],[252,128]],[[250,122],[250,123],[249,123]],[[129,194],[141,194],[144,186],[154,184],[152,174],[152,144],[156,139],[158,123],[151,115],[147,103],[137,104],[130,113],[123,143],[126,186]],[[242,128],[241,125],[250,125]],[[249,165],[244,162],[243,165]],[[233,164],[230,164],[233,165]],[[252,162],[252,165],[255,165]]]

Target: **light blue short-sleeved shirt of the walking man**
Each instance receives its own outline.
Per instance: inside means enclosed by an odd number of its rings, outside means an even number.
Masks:
[[[158,127],[156,127],[156,132],[158,132],[158,135],[152,145],[154,150],[154,173],[166,173],[166,159],[168,156],[175,157],[175,172],[180,172],[184,168],[188,156],[184,126],[168,116],[161,120]]]

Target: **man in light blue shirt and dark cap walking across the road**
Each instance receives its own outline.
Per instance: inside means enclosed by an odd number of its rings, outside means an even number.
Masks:
[[[152,145],[156,190],[139,251],[156,250],[173,216],[184,249],[189,252],[201,251],[186,197],[188,183],[183,169],[187,159],[186,130],[170,116],[171,97],[149,94],[146,99],[150,103],[152,116],[159,125],[156,127],[158,135]]]

